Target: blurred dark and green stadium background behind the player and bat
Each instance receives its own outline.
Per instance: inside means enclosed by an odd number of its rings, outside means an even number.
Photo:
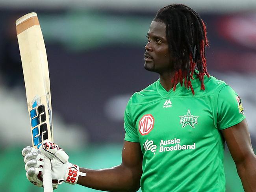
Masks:
[[[144,70],[156,11],[184,3],[208,29],[208,72],[241,96],[256,146],[255,0],[0,0],[0,191],[43,191],[26,179],[21,150],[31,145],[15,20],[37,12],[50,70],[54,141],[86,168],[121,163],[123,113],[130,96],[158,79]],[[230,153],[226,191],[243,192]],[[94,192],[63,184],[58,191]]]

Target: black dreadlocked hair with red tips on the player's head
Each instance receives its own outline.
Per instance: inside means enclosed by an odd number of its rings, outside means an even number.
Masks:
[[[174,59],[175,75],[172,79],[176,84],[184,85],[195,94],[191,84],[195,67],[197,66],[197,78],[201,81],[201,90],[204,90],[204,75],[209,77],[206,69],[205,48],[208,46],[206,26],[190,7],[183,4],[171,4],[161,8],[154,21],[163,22],[166,25],[166,36],[170,54]]]

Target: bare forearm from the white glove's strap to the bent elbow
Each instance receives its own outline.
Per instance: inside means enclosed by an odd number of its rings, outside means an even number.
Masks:
[[[78,184],[103,191],[132,192],[139,189],[140,175],[122,165],[109,169],[90,170],[80,168],[86,176],[78,178]]]

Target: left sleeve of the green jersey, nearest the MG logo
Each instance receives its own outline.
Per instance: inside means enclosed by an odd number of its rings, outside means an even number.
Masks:
[[[137,130],[134,124],[132,123],[130,103],[131,103],[131,98],[127,103],[126,109],[124,111],[124,129],[125,129],[124,140],[131,141],[131,142],[139,142],[139,136],[138,136]]]

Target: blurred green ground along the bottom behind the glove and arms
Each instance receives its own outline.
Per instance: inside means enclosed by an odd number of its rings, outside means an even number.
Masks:
[[[0,150],[0,174],[1,192],[43,192],[42,188],[33,186],[26,179],[23,157],[21,150],[23,146]],[[121,163],[122,144],[94,144],[86,146],[84,150],[67,151],[69,161],[79,166],[100,169],[108,168]],[[226,192],[243,192],[241,181],[236,173],[235,164],[229,152],[225,153]],[[96,192],[80,185],[68,185],[63,183],[58,187],[59,192]],[[141,190],[139,190],[141,191]]]

